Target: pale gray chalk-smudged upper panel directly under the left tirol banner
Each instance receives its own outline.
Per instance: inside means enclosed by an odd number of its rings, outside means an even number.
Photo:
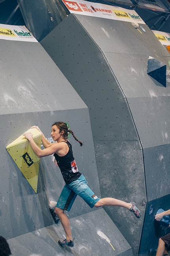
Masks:
[[[40,43],[0,40],[0,114],[85,108]]]

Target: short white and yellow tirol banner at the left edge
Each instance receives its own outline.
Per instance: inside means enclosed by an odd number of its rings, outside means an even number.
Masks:
[[[0,24],[0,39],[38,42],[25,26]]]

